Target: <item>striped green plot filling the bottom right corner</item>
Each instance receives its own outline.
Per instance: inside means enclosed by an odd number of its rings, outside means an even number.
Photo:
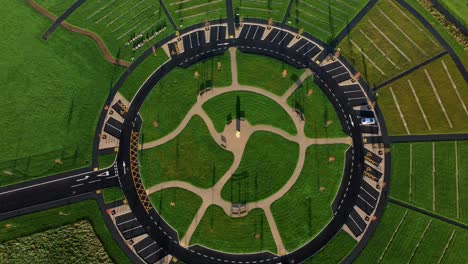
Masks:
[[[355,263],[466,263],[468,232],[389,204]]]

